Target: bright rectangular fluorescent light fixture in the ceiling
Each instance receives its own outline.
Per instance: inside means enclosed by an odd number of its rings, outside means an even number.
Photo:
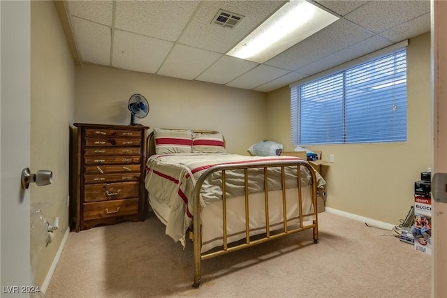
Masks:
[[[305,0],[290,0],[227,54],[264,63],[338,19]]]

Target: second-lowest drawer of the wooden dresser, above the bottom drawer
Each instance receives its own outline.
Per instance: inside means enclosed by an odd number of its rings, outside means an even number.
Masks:
[[[86,184],[84,186],[84,202],[98,202],[138,198],[140,183],[122,182],[108,184]]]

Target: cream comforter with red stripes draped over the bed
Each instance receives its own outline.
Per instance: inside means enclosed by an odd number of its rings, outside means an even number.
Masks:
[[[154,155],[147,161],[145,187],[150,200],[166,204],[168,218],[164,218],[166,234],[175,241],[184,239],[193,217],[193,189],[205,170],[220,164],[245,165],[249,163],[272,163],[274,161],[296,161],[293,156],[242,156],[237,154],[165,154]],[[296,167],[286,167],[286,188],[296,187]],[[316,173],[318,174],[318,173]],[[317,181],[323,181],[318,177]],[[301,173],[302,186],[312,181],[307,169]],[[264,191],[262,169],[249,170],[249,193]],[[232,198],[244,195],[244,171],[226,172],[226,195]],[[281,189],[281,168],[268,171],[268,191]],[[200,191],[202,207],[221,199],[221,173],[214,172]]]

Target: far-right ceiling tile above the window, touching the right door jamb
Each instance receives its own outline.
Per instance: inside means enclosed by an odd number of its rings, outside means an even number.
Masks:
[[[430,13],[425,13],[425,15],[416,17],[416,19],[406,22],[393,29],[382,32],[380,35],[385,38],[388,38],[389,40],[393,40],[395,43],[397,43],[401,40],[412,38],[420,34],[430,32],[430,26],[431,26]]]

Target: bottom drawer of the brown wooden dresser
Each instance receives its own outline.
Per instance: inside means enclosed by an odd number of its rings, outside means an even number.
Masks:
[[[138,214],[138,198],[84,204],[84,220]]]

